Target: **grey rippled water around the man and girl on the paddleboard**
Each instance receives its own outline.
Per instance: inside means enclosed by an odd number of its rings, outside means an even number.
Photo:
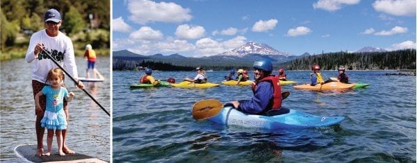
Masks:
[[[86,61],[76,58],[79,76],[85,77]],[[96,68],[106,80],[103,83],[84,83],[85,89],[101,105],[110,110],[110,72],[109,57],[97,58]],[[35,102],[31,86],[31,64],[24,59],[1,62],[1,162],[22,162],[13,149],[19,144],[36,144]],[[70,92],[76,95],[70,103],[70,124],[67,132],[67,146],[76,153],[83,153],[101,160],[110,160],[111,119],[81,89],[74,87],[69,77],[65,83]],[[47,135],[44,135],[46,150]],[[53,147],[56,147],[54,137]],[[55,153],[56,151],[53,151]]]

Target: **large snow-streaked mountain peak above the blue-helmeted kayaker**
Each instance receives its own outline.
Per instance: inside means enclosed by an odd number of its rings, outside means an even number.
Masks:
[[[247,42],[246,44],[236,49],[233,49],[232,51],[226,51],[218,55],[231,55],[231,56],[241,57],[250,53],[256,53],[256,54],[261,54],[261,55],[284,55],[287,57],[291,55],[290,53],[277,51],[273,49],[271,46],[268,46],[268,44],[258,44],[254,42]]]

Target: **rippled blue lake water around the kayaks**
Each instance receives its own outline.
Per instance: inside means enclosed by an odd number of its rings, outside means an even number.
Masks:
[[[366,89],[347,92],[283,86],[283,91],[291,92],[283,101],[287,108],[346,119],[327,128],[270,131],[218,126],[191,117],[195,102],[248,99],[250,87],[129,89],[143,72],[113,71],[113,161],[416,162],[416,76],[386,73],[395,72],[347,71],[353,83],[370,83]],[[221,83],[228,72],[207,74],[210,82]],[[286,74],[299,84],[309,83],[310,71]],[[175,78],[178,83],[193,78],[195,72],[155,71],[153,75],[161,80]]]

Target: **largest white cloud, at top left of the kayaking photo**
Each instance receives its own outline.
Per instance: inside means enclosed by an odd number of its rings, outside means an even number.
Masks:
[[[148,0],[135,0],[128,2],[128,10],[131,12],[131,19],[138,24],[147,22],[187,22],[193,17],[190,9],[183,8],[177,3],[160,2]]]

